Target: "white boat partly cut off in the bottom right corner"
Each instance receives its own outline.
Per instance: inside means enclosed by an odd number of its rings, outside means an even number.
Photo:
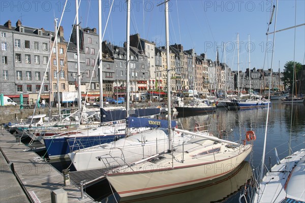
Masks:
[[[305,149],[289,157],[274,165],[264,176],[253,202],[305,201]],[[292,200],[283,201],[285,198]]]

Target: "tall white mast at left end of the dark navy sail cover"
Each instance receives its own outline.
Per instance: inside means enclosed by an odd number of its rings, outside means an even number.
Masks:
[[[103,52],[102,52],[102,1],[99,0],[99,80],[100,80],[100,107],[103,108]]]

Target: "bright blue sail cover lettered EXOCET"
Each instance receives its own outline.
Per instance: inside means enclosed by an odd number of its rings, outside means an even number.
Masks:
[[[126,119],[128,122],[128,127],[152,127],[152,128],[168,128],[167,120],[157,120],[150,118],[136,118],[129,117]],[[171,121],[171,127],[176,126],[176,121]]]

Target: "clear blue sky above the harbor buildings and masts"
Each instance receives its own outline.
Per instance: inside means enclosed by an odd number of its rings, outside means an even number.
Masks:
[[[103,30],[112,1],[103,2]],[[153,41],[157,46],[165,45],[164,6],[157,7],[163,1],[131,1],[130,33],[140,33],[141,38]],[[54,16],[60,19],[65,1],[0,1],[0,23],[11,20],[15,25],[20,19],[24,26],[54,29]],[[239,68],[245,71],[249,66],[248,35],[251,41],[251,67],[267,69],[271,64],[273,35],[268,37],[266,30],[270,10],[275,1],[201,1],[171,0],[169,9],[170,42],[182,44],[185,50],[195,49],[197,54],[206,53],[207,58],[216,59],[219,49],[221,61],[224,61],[223,45],[226,47],[226,62],[237,70],[236,35],[239,33]],[[305,1],[296,1],[296,25],[305,23]],[[144,8],[144,9],[143,9]],[[63,22],[65,39],[68,41],[75,18],[75,1],[68,1]],[[98,29],[98,1],[82,0],[79,21],[82,27]],[[295,1],[279,1],[276,29],[295,24]],[[275,15],[269,30],[273,31]],[[126,41],[126,3],[115,1],[110,12],[104,40],[122,46]],[[296,28],[295,60],[304,64],[305,26]],[[265,50],[268,50],[265,57]],[[235,50],[235,51],[234,51]],[[273,70],[278,71],[294,57],[294,29],[276,33]],[[265,61],[265,64],[264,64]]]

